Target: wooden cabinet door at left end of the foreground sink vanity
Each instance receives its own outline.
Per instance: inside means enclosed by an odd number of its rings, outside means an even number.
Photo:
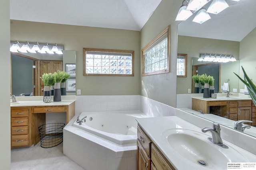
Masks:
[[[150,163],[150,158],[148,158],[142,145],[137,141],[137,170],[150,170]]]

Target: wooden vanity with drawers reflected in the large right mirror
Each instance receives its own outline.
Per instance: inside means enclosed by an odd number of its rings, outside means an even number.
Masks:
[[[202,97],[201,97],[202,98]],[[253,123],[246,123],[248,125],[256,125],[256,107],[250,99],[228,99],[218,100],[212,98],[192,98],[192,109],[195,111],[202,110],[203,113],[211,113],[232,119],[250,120]]]

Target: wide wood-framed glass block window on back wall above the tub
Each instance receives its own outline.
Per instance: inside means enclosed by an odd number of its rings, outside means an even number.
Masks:
[[[134,76],[134,51],[84,48],[84,76]]]

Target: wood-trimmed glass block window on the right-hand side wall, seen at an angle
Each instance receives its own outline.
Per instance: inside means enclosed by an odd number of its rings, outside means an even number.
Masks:
[[[169,72],[170,25],[142,49],[142,76]]]

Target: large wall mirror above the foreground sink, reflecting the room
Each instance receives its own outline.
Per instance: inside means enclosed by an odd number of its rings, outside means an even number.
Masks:
[[[251,128],[246,128],[244,133],[256,137],[256,128],[253,127],[256,125],[255,106],[250,100],[250,96],[244,95],[244,84],[233,73],[236,72],[243,76],[240,70],[240,67],[243,66],[255,84],[256,18],[254,13],[256,11],[254,9],[256,1],[243,0],[235,2],[226,0],[226,2],[229,5],[228,8],[218,15],[210,14],[211,19],[202,24],[192,22],[194,14],[178,25],[178,53],[187,54],[188,76],[177,77],[177,108],[187,107],[184,109],[185,111],[211,121],[217,121],[232,129],[234,129],[235,121],[241,119],[253,121],[253,123],[247,123],[251,125]],[[210,3],[205,8],[207,9],[209,5]],[[192,110],[191,97],[195,94],[188,94],[190,90],[193,92],[192,75],[196,73],[196,70],[199,71],[196,68],[200,65],[209,64],[209,62],[198,63],[197,59],[202,53],[229,54],[233,55],[237,60],[236,62],[219,64],[219,81],[214,85],[214,92],[221,93],[223,84],[226,80],[229,80],[230,93],[233,95],[227,98],[226,93],[219,94],[220,97],[212,99],[220,101],[216,105],[219,104],[221,106],[212,107],[208,101],[208,104],[203,108],[204,111],[202,111],[204,114],[198,112],[199,109]],[[208,74],[211,75],[212,73]],[[202,94],[198,95],[202,96]],[[201,96],[198,98],[203,99]],[[202,102],[202,100],[199,101]],[[232,104],[237,104],[238,106],[233,106]],[[198,105],[204,106],[203,103]]]

